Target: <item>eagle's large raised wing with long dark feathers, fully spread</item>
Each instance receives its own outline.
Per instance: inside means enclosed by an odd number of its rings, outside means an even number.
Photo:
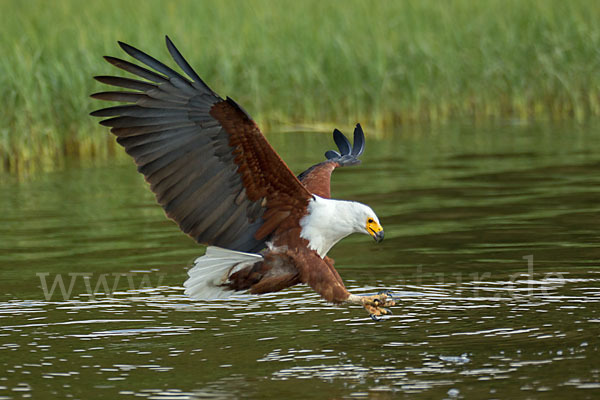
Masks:
[[[132,104],[91,115],[112,117],[100,123],[112,128],[181,230],[199,243],[258,251],[283,221],[301,217],[311,194],[250,116],[232,99],[213,92],[168,37],[166,42],[191,79],[119,42],[151,70],[105,57],[144,80],[96,77],[130,90],[96,93],[93,98]]]

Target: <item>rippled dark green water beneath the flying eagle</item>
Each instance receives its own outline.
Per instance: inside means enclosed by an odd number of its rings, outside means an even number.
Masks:
[[[395,291],[379,323],[302,286],[190,301],[202,249],[128,160],[3,176],[0,398],[597,398],[598,128],[368,138],[333,193],[370,204],[386,240],[330,255],[354,292]],[[331,147],[269,138],[295,171]]]

